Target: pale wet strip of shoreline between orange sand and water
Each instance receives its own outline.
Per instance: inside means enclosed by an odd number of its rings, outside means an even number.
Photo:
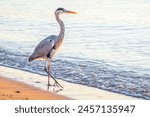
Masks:
[[[6,79],[13,80],[14,83],[24,84],[25,87],[31,89],[37,89],[37,93],[44,91],[47,95],[56,95],[53,99],[77,99],[77,100],[138,100],[140,98],[126,96],[98,88],[93,88],[80,84],[68,83],[66,81],[58,80],[58,82],[64,87],[63,91],[57,94],[53,92],[53,88],[50,92],[45,91],[47,88],[47,77],[39,74],[33,74],[27,71],[21,71],[14,68],[0,66],[0,76]],[[4,86],[5,87],[5,86]],[[28,89],[28,88],[27,88]],[[7,90],[6,88],[4,90]],[[60,96],[60,97],[59,97]],[[51,97],[51,98],[52,98]],[[68,97],[68,98],[67,98]],[[30,98],[29,98],[30,99]],[[41,98],[43,99],[43,98]],[[40,98],[39,98],[40,100]]]

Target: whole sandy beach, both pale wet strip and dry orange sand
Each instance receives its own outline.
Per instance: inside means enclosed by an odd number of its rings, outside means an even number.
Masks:
[[[131,96],[117,94],[93,87],[58,80],[63,91],[54,93],[53,88],[46,91],[47,77],[0,66],[1,100],[137,100]],[[18,82],[19,81],[19,82]],[[23,82],[23,83],[22,83]]]

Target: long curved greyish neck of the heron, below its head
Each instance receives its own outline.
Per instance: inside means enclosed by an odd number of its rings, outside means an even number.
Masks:
[[[59,33],[58,36],[61,39],[63,39],[64,38],[64,33],[65,33],[65,25],[62,22],[62,20],[59,18],[59,13],[55,13],[55,16],[56,16],[56,20],[57,20],[57,22],[59,23],[59,26],[60,26],[60,33]]]

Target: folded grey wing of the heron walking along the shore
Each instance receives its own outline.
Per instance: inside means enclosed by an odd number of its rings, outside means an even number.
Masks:
[[[45,38],[44,40],[42,40],[35,48],[32,56],[34,56],[34,58],[47,57],[47,55],[54,48],[56,38],[57,38],[57,36],[52,35],[52,36],[49,36],[49,37]]]

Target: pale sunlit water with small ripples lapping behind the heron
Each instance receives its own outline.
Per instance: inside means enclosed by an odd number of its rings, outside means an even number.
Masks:
[[[66,26],[52,74],[65,81],[150,99],[148,0],[1,0],[0,65],[46,75],[44,61],[28,62],[35,46]]]

